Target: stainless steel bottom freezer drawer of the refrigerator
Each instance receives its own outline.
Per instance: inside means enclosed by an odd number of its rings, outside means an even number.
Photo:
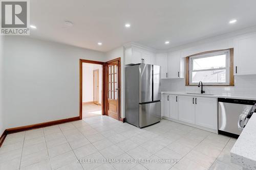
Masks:
[[[139,105],[139,127],[155,124],[161,120],[161,102]]]

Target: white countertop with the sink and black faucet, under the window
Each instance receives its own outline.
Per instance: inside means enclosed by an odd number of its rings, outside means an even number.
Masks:
[[[177,92],[177,91],[162,91],[162,94],[176,94],[176,95],[190,95],[190,96],[202,96],[207,98],[229,98],[229,99],[244,99],[244,100],[256,100],[256,96],[236,96],[229,94],[188,94],[187,92]]]

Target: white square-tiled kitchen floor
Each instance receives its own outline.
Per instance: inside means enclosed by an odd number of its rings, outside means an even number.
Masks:
[[[95,116],[8,135],[0,148],[0,169],[242,169],[230,163],[235,141],[164,119],[139,129]],[[96,162],[147,158],[152,162]],[[163,159],[173,161],[157,162]]]

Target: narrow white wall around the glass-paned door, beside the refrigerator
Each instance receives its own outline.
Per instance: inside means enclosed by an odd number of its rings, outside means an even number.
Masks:
[[[124,64],[124,48],[123,46],[120,46],[118,48],[115,48],[114,50],[106,53],[106,59],[105,61],[110,61],[110,60],[113,60],[113,59],[116,59],[116,58],[121,58],[121,117],[125,117],[125,86],[124,86],[124,82],[125,82],[125,79],[124,79],[124,67],[125,67],[125,64]]]

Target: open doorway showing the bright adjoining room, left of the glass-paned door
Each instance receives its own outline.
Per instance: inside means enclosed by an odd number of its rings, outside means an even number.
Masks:
[[[80,60],[80,119],[104,111],[103,62]]]

